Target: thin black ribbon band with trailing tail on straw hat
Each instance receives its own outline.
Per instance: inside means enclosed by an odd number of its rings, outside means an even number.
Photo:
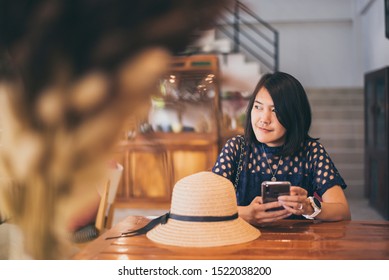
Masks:
[[[177,214],[172,214],[172,213],[168,212],[162,216],[159,216],[158,218],[151,220],[144,227],[141,227],[139,229],[132,230],[132,231],[123,232],[119,236],[111,236],[111,237],[107,237],[105,239],[108,240],[108,239],[115,239],[115,238],[120,238],[120,237],[132,237],[132,236],[142,235],[142,234],[145,234],[148,231],[152,230],[157,225],[166,224],[169,219],[184,221],[184,222],[224,222],[224,221],[235,220],[238,217],[239,217],[238,213],[235,213],[235,214],[230,215],[230,216],[184,216],[184,215],[177,215]]]

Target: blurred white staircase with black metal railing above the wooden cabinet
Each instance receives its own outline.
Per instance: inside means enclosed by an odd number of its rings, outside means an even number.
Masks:
[[[239,83],[238,88],[226,85],[225,90],[251,91],[261,71],[278,71],[278,43],[278,31],[236,0],[232,7],[225,7],[215,28],[204,31],[185,54],[218,54],[222,75],[232,81],[228,84]],[[242,81],[246,84],[242,85]]]

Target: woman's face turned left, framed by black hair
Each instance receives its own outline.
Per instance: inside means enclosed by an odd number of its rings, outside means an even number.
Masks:
[[[251,108],[251,125],[255,137],[269,147],[278,147],[285,143],[286,129],[278,121],[273,99],[265,87],[255,97]]]

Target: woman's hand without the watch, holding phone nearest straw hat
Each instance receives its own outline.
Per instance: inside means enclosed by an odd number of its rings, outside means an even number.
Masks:
[[[248,206],[238,206],[239,216],[254,226],[266,226],[272,222],[285,219],[291,215],[286,209],[267,211],[278,208],[278,201],[263,203],[262,197],[257,196]]]

